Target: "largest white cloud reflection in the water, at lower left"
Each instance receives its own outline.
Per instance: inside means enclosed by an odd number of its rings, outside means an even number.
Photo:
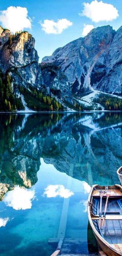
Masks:
[[[8,192],[4,198],[7,206],[13,207],[15,210],[31,209],[32,200],[35,199],[35,191],[25,188],[15,187],[14,190]]]

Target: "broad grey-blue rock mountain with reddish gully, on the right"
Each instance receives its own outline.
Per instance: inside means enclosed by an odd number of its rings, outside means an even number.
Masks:
[[[60,65],[72,92],[81,94],[92,87],[108,93],[122,93],[122,27],[97,27],[84,38],[58,48],[42,62]]]

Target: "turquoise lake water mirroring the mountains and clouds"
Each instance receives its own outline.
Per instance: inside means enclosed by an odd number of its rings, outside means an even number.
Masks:
[[[60,236],[93,252],[88,193],[121,165],[122,113],[0,114],[0,255],[50,256]]]

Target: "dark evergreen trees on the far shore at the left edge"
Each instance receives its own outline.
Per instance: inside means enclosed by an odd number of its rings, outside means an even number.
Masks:
[[[14,95],[11,85],[11,77],[8,74],[3,80],[0,72],[0,111],[16,111],[24,109],[21,98]]]

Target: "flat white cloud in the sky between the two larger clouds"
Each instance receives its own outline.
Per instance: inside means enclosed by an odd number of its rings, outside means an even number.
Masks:
[[[44,23],[41,23],[41,21],[39,23],[46,34],[61,34],[64,29],[73,24],[67,19],[61,19],[57,22],[54,22],[54,20],[44,20]]]

